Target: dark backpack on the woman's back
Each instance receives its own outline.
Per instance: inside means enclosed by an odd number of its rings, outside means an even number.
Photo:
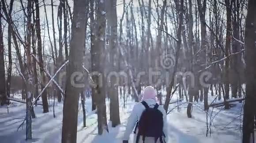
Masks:
[[[145,143],[145,137],[154,137],[155,143],[158,139],[163,143],[163,114],[158,110],[159,105],[155,104],[154,108],[151,108],[145,101],[141,103],[146,109],[142,112],[139,122],[136,124],[135,132],[137,128],[139,129],[136,143],[139,143],[140,136],[142,136],[143,143]]]

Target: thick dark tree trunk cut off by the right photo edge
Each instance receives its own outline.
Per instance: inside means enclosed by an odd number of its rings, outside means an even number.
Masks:
[[[248,0],[245,22],[245,105],[243,119],[243,143],[253,143],[254,117],[256,115],[256,1]]]

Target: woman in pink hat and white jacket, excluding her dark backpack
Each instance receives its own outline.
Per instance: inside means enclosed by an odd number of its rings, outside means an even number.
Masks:
[[[145,101],[147,105],[151,108],[154,108],[154,105],[157,104],[157,98],[156,98],[156,90],[152,86],[147,86],[144,91],[143,91],[143,97],[142,101]],[[126,126],[126,131],[124,132],[124,140],[123,143],[128,143],[128,140],[130,138],[130,134],[132,133],[134,127],[136,126],[137,122],[139,122],[141,114],[143,111],[146,109],[146,107],[141,103],[137,103],[134,105],[132,109],[132,113],[130,117],[128,118],[127,126]],[[167,119],[166,119],[166,111],[164,110],[163,106],[159,106],[157,108],[159,111],[161,111],[163,115],[163,129],[162,132],[164,134],[163,142],[167,143]],[[136,138],[137,138],[137,133],[138,133],[138,128],[136,128],[136,134],[134,135],[134,143],[136,143]],[[143,138],[139,137],[138,140],[139,143],[143,143]],[[154,137],[146,137],[144,143],[155,143],[155,138]],[[157,140],[157,143],[161,143],[160,139]]]

